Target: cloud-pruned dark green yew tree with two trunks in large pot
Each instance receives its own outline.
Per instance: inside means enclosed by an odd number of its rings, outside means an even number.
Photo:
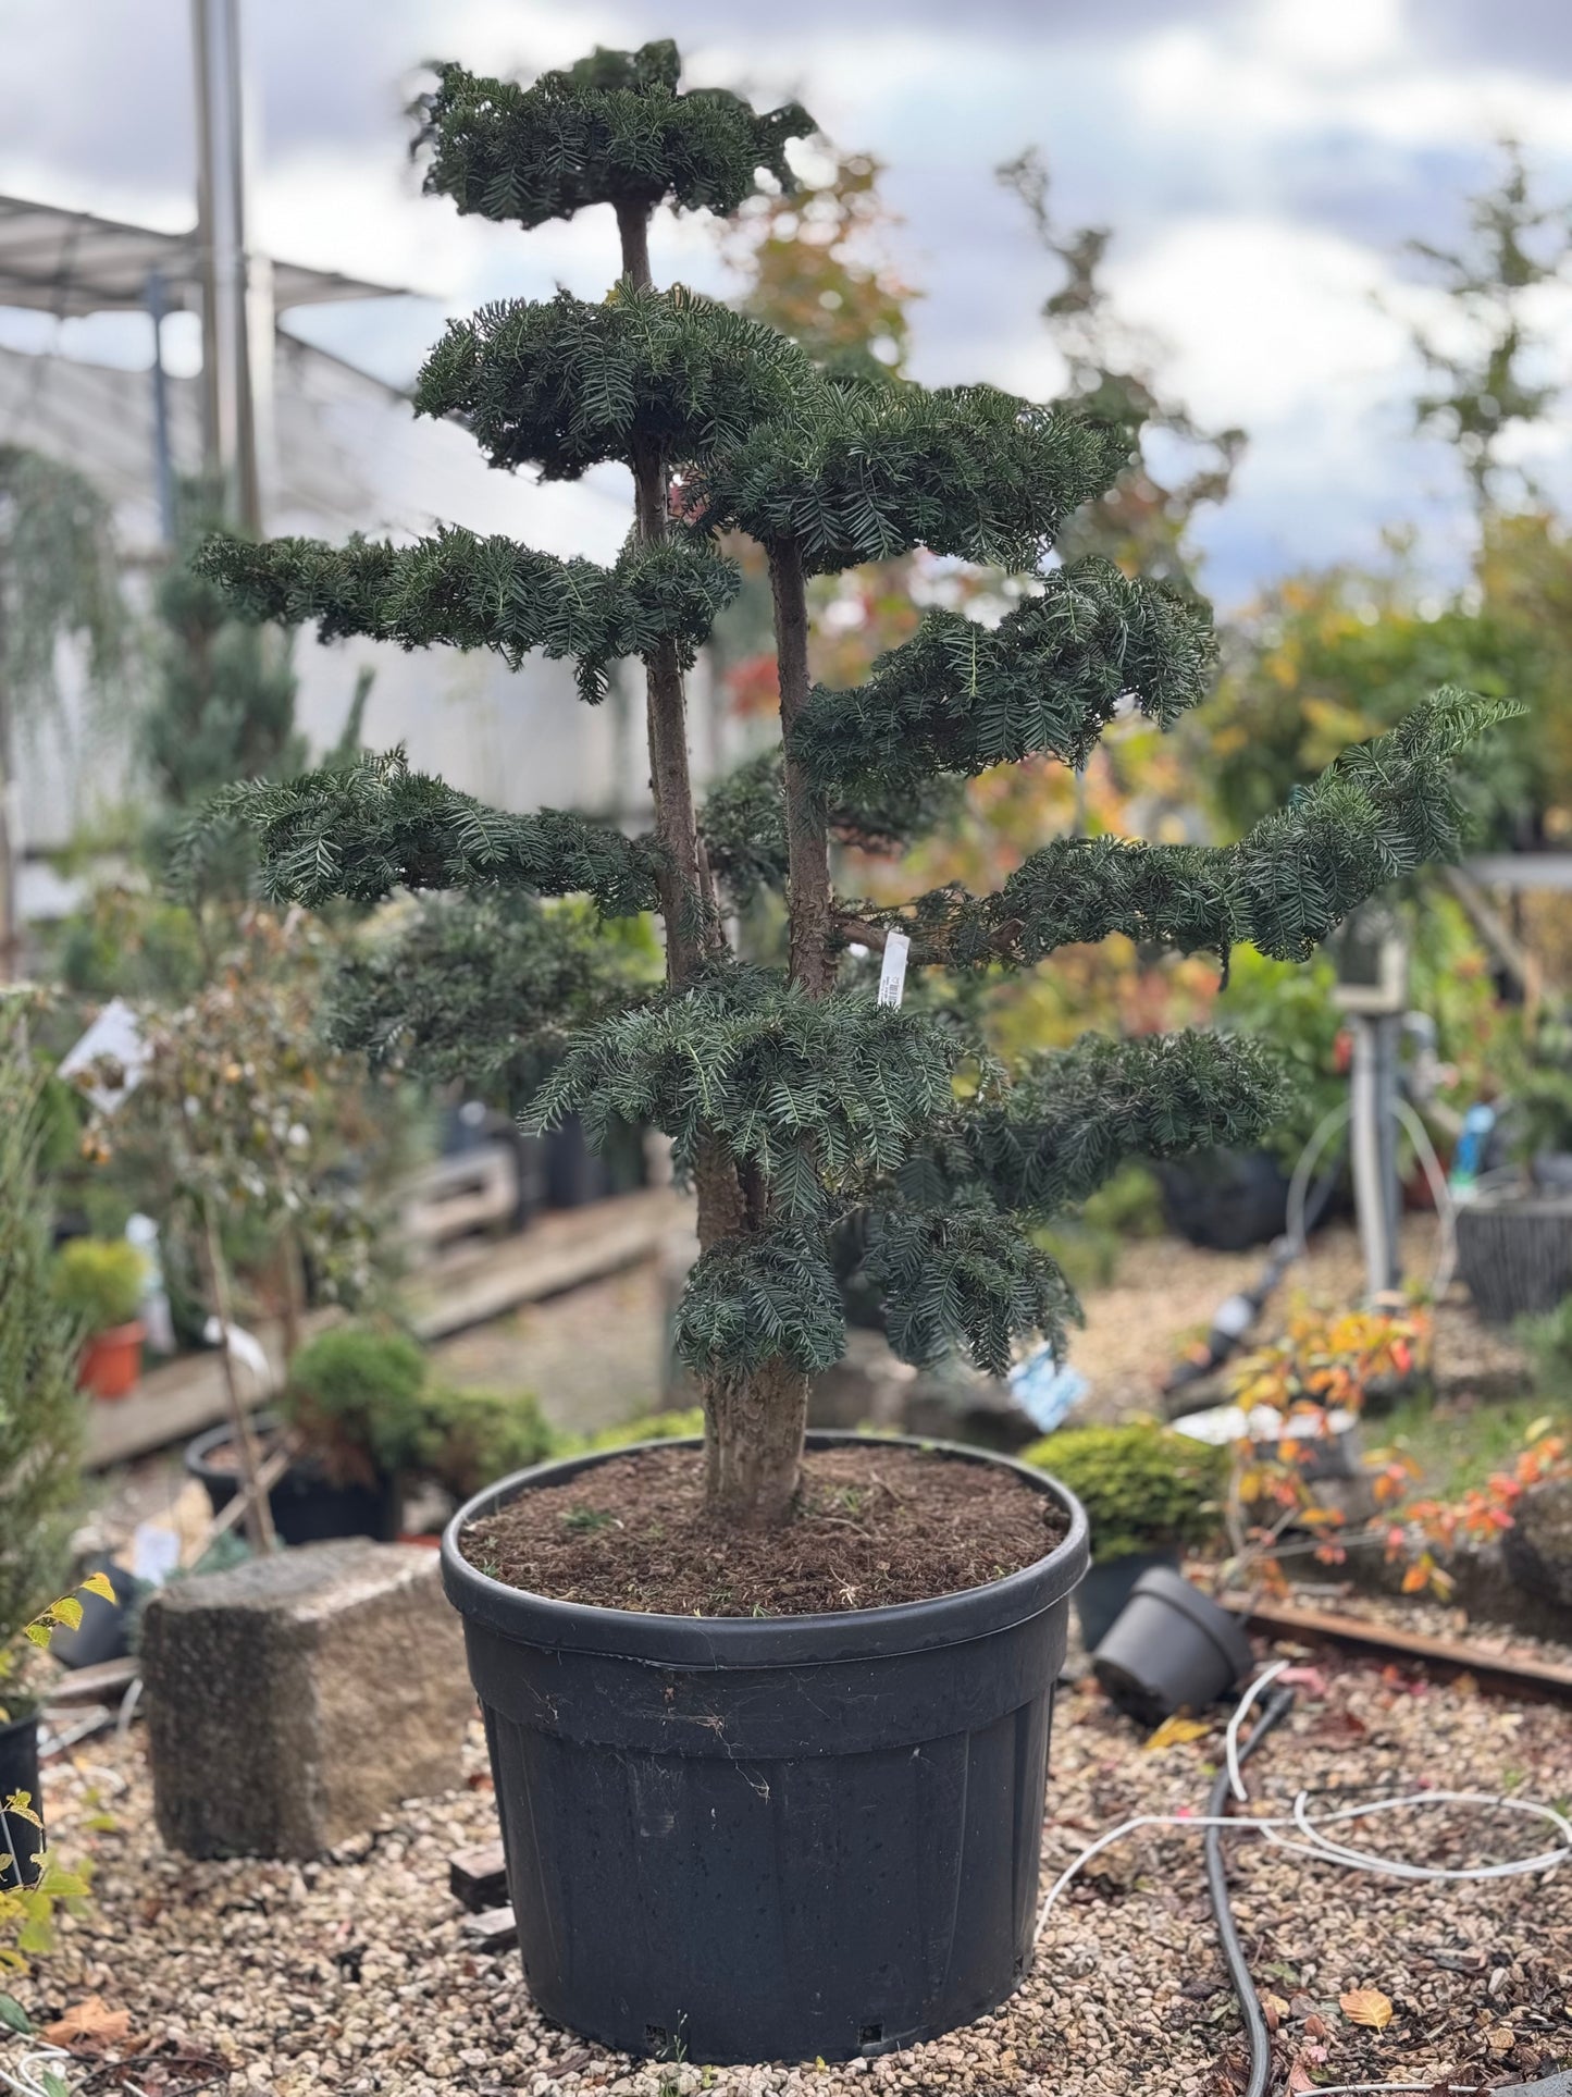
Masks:
[[[252,617],[314,621],[323,637],[570,658],[587,705],[620,658],[643,665],[648,835],[503,814],[398,753],[245,786],[224,807],[256,824],[279,900],[524,891],[589,898],[604,918],[660,914],[664,988],[581,1009],[532,1111],[541,1126],[576,1111],[597,1134],[650,1122],[673,1137],[698,1197],[677,1342],[704,1401],[708,1501],[717,1518],[773,1525],[799,1487],[809,1380],[845,1344],[836,1233],[866,1244],[905,1359],[960,1348],[1002,1371],[1023,1336],[1063,1346],[1075,1313],[1038,1225],[1132,1153],[1253,1141],[1279,1103],[1253,1042],[1205,1034],[1086,1038],[1008,1076],[935,1000],[876,998],[868,969],[891,935],[918,969],[1029,967],[1115,931],[1224,967],[1237,942],[1304,958],[1373,889],[1453,845],[1448,761],[1488,709],[1436,696],[1226,849],[1056,839],[994,895],[945,887],[874,910],[836,893],[834,841],[899,837],[943,776],[1033,753],[1079,763],[1126,707],[1174,721],[1207,692],[1211,621],[1107,560],[1052,566],[1065,518],[1126,468],[1128,428],[991,386],[828,371],[757,321],[656,289],[656,208],[729,214],[759,170],[788,185],[786,145],[811,128],[796,107],[757,115],[677,80],[675,48],[648,44],[532,86],[446,65],[423,101],[425,189],[461,212],[528,229],[612,208],[608,296],[453,323],[415,405],[467,424],[493,466],[564,480],[625,463],[635,516],[618,560],[438,531],[415,545],[220,539],[205,572]],[[769,562],[782,753],[696,809],[683,671],[738,583],[723,533]],[[916,545],[1031,577],[1035,593],[996,629],[929,612],[866,684],[815,686],[807,579]],[[761,883],[788,904],[780,971],[727,946],[738,891]],[[541,910],[539,933],[541,954],[560,935],[551,965],[484,1007],[514,1048],[560,1025],[585,981],[583,914]],[[524,950],[499,939],[499,956]],[[381,1051],[398,1038],[396,973],[386,990],[379,1023],[358,1007]]]

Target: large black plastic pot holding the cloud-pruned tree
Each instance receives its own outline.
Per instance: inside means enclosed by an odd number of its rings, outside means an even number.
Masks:
[[[1010,1464],[1069,1510],[1056,1550],[987,1587],[836,1617],[589,1608],[463,1558],[472,1520],[599,1462],[505,1478],[442,1537],[543,2013],[627,2053],[828,2061],[1002,2003],[1031,1957],[1052,1694],[1086,1571],[1075,1499]]]

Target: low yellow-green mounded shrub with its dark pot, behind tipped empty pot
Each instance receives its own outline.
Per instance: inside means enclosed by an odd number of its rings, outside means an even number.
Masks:
[[[1065,1428],[1033,1443],[1023,1462],[1052,1472],[1086,1508],[1092,1569],[1075,1590],[1075,1615],[1088,1650],[1100,1644],[1142,1573],[1178,1566],[1186,1548],[1218,1531],[1228,1451],[1155,1420]]]

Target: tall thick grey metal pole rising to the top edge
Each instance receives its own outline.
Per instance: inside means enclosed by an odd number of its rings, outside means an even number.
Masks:
[[[239,0],[193,0],[193,55],[208,468],[235,522],[258,533],[262,501],[247,317]]]

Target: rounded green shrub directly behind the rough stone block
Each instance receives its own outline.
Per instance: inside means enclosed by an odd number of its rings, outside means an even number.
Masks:
[[[283,1415],[331,1476],[409,1470],[425,1426],[425,1355],[400,1332],[333,1325],[289,1365]]]

